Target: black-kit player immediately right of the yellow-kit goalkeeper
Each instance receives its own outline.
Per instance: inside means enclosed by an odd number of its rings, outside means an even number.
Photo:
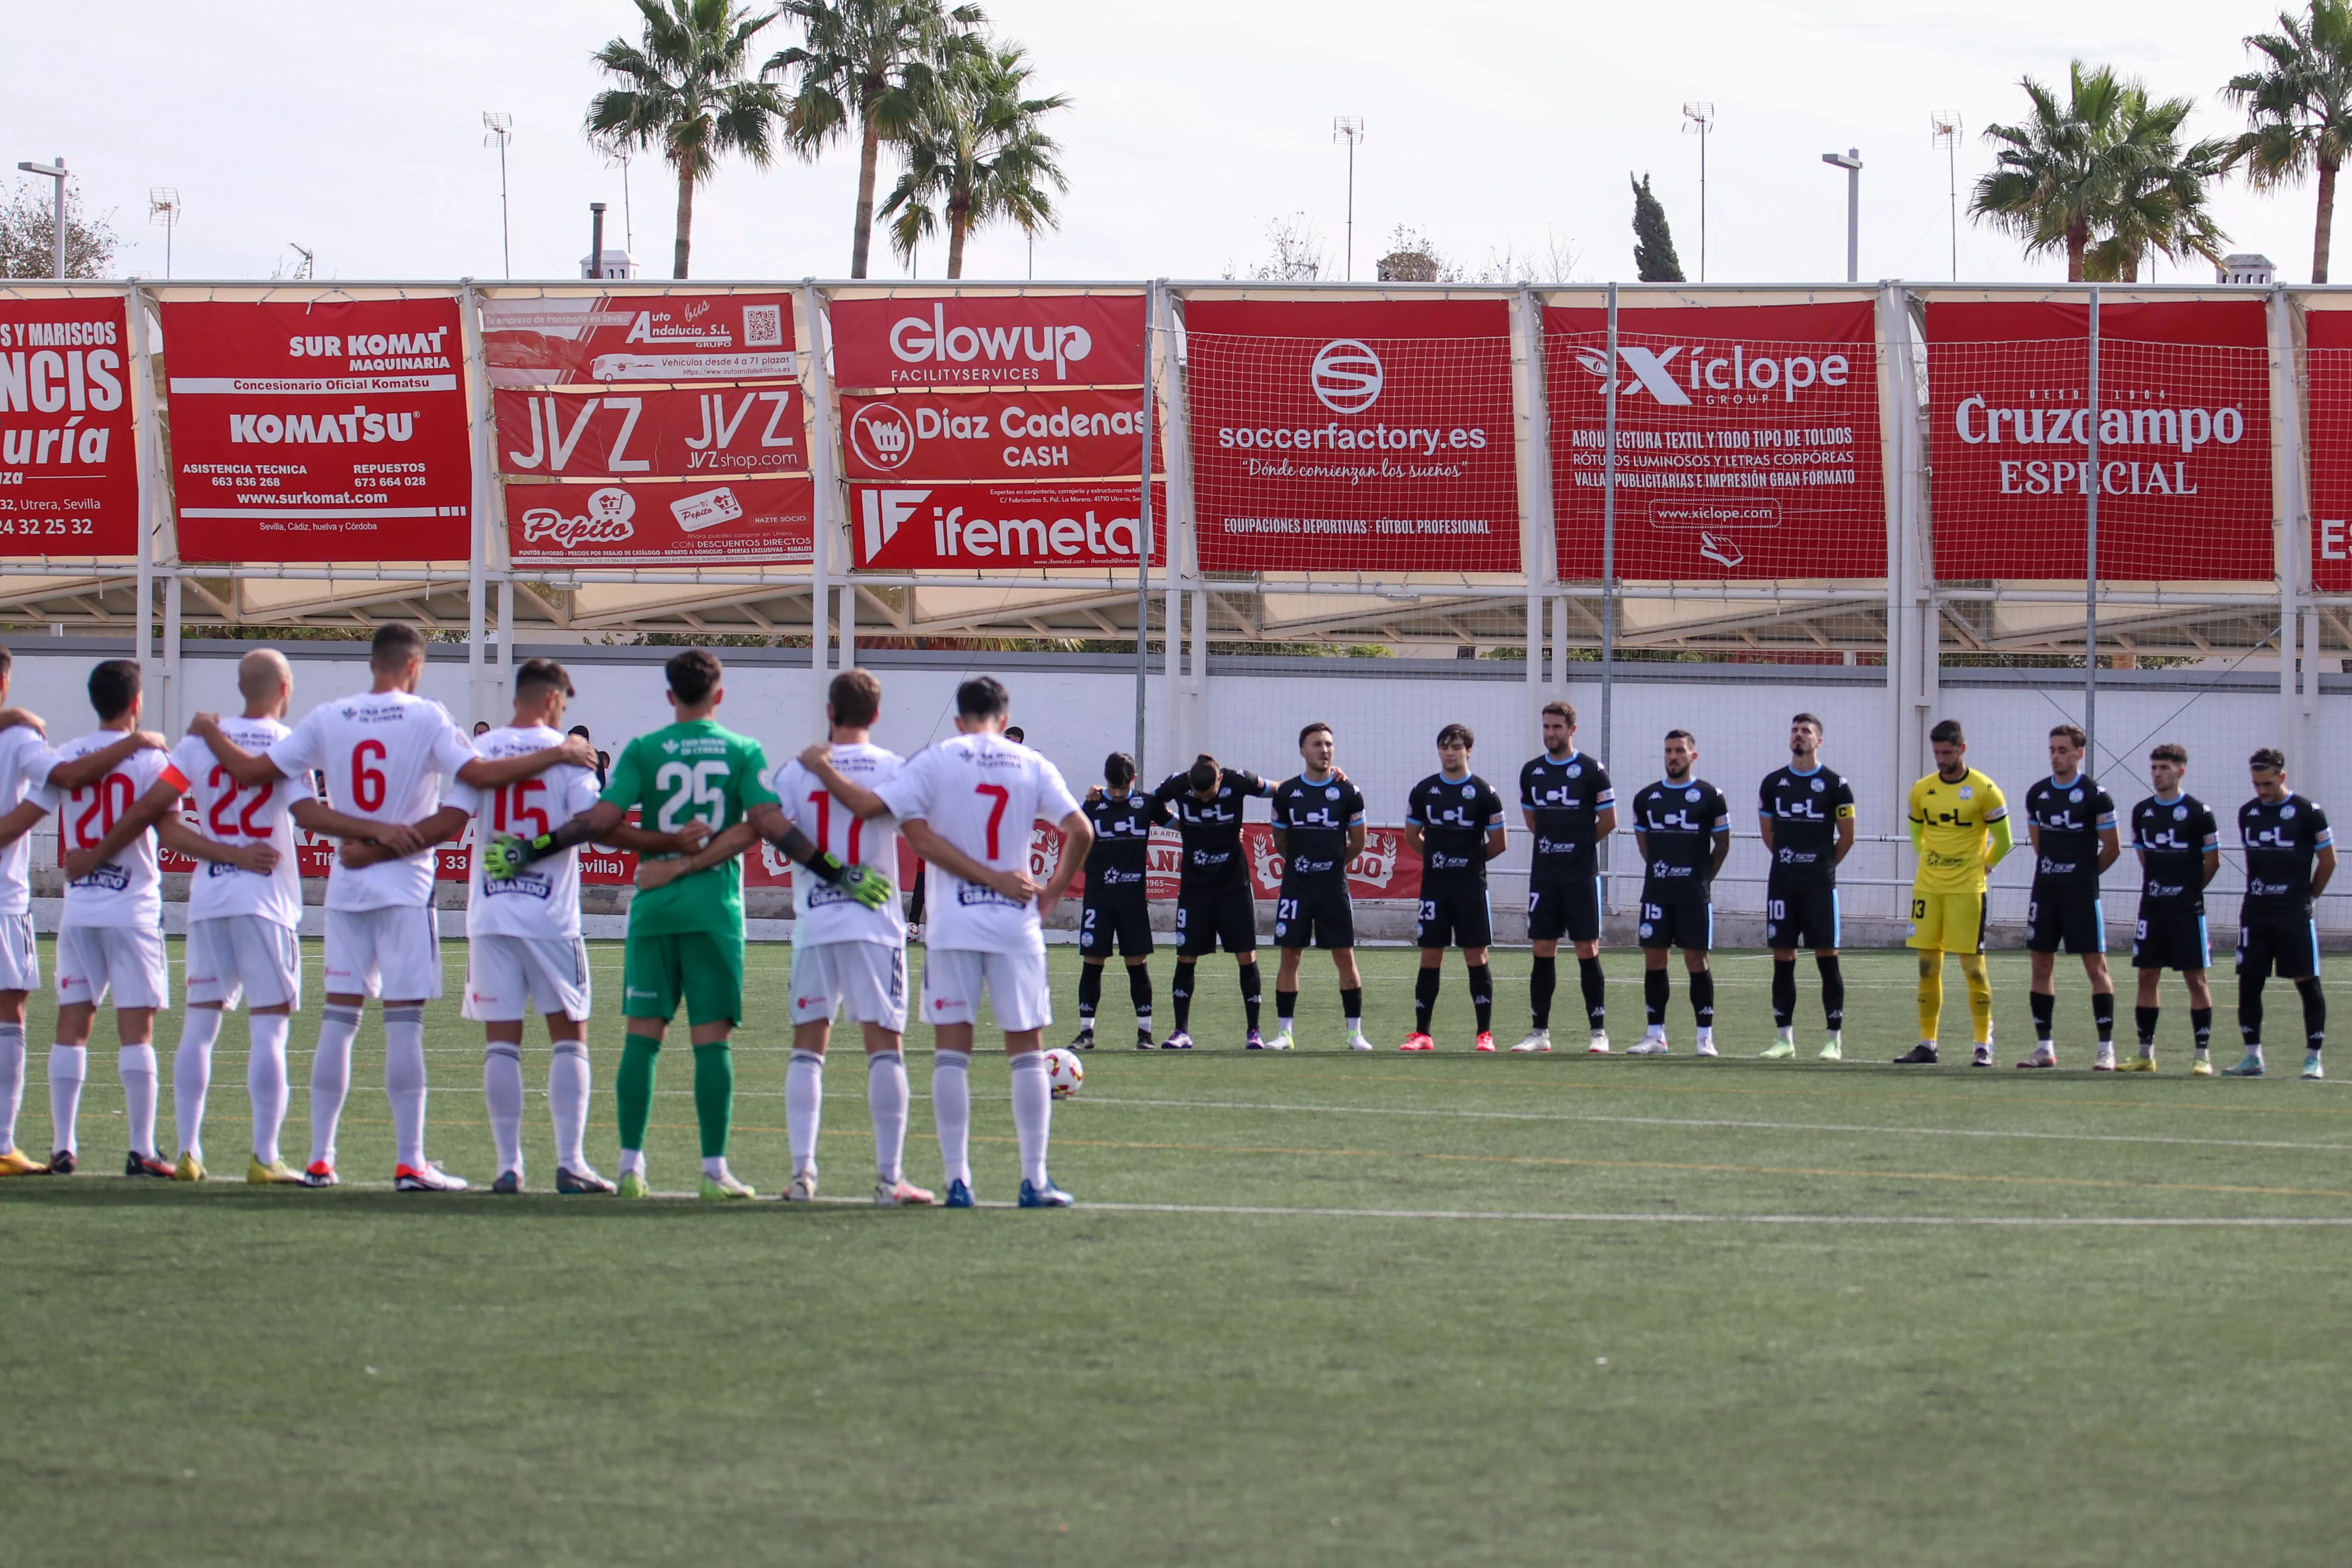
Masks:
[[[2091,738],[2074,724],[2051,729],[2051,776],[2025,792],[2025,832],[2034,846],[2034,889],[2025,903],[2025,952],[2032,961],[2034,1048],[2018,1067],[2056,1067],[2058,947],[2082,959],[2091,978],[2098,1060],[2114,1063],[2114,980],[2107,976],[2107,905],[2098,879],[2122,851],[2114,799],[2082,771]],[[2091,1065],[2098,1067],[2098,1060]]]

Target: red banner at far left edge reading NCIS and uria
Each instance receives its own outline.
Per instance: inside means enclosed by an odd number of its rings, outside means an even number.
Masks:
[[[0,299],[0,555],[134,555],[139,444],[120,299]]]

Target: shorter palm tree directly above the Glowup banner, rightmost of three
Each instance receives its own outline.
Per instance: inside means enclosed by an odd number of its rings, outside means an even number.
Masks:
[[[964,240],[988,223],[1014,223],[1028,233],[1054,228],[1054,197],[1068,190],[1056,155],[1061,146],[1037,129],[1042,115],[1068,108],[1068,94],[1025,99],[1030,63],[1021,45],[995,45],[941,78],[901,136],[906,174],[882,202],[891,223],[891,249],[913,256],[915,244],[946,223],[948,277],[964,275]]]

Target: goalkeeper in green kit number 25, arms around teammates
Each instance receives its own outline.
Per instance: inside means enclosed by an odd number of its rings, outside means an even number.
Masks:
[[[767,755],[750,736],[710,715],[727,691],[720,661],[687,649],[666,665],[677,722],[637,736],[614,759],[604,797],[555,832],[501,837],[482,851],[492,879],[508,879],[539,856],[586,844],[621,825],[635,806],[640,827],[673,835],[687,853],[736,823],[781,849],[811,875],[875,907],[894,893],[889,877],[842,865],[793,827],[760,783]],[[703,1197],[748,1199],[753,1190],[727,1171],[727,1124],[734,1114],[734,1056],[727,1034],[743,1020],[743,863],[727,858],[661,886],[640,886],[628,905],[621,966],[621,1013],[628,1039],[614,1100],[621,1107],[621,1197],[644,1197],[644,1126],[654,1112],[654,1063],[661,1037],[684,1001],[694,1041],[694,1119],[703,1135]]]

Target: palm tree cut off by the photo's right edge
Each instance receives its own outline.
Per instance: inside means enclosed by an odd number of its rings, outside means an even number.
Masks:
[[[2326,282],[2336,172],[2352,150],[2352,7],[2345,0],[2312,0],[2310,21],[2279,12],[2279,31],[2256,33],[2246,47],[2267,63],[2232,75],[2223,87],[2253,127],[2232,143],[2232,162],[2246,165],[2256,190],[2319,172],[2312,282]]]

